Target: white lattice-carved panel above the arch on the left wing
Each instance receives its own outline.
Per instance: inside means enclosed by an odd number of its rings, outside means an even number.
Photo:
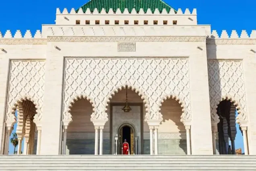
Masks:
[[[31,100],[36,108],[35,122],[42,117],[45,83],[44,60],[11,60],[8,79],[6,122],[14,122],[14,113],[23,100]]]

